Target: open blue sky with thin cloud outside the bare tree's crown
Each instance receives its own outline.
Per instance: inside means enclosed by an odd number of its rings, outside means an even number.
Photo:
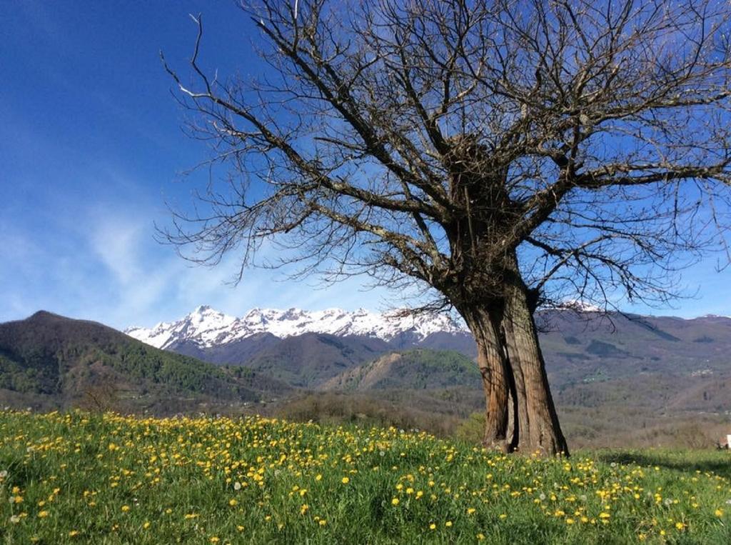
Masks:
[[[356,280],[323,290],[317,279],[253,270],[232,287],[234,256],[192,267],[154,241],[165,201],[190,202],[178,173],[205,157],[181,132],[158,52],[184,72],[195,36],[189,13],[202,12],[202,64],[260,72],[251,51],[258,34],[232,1],[0,0],[0,10],[0,321],[47,309],[123,328],[198,304],[235,315],[386,306],[387,292]],[[663,313],[731,315],[731,270],[716,273],[708,260],[684,281],[697,296]]]

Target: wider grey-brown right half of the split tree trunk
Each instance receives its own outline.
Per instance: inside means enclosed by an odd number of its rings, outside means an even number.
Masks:
[[[516,416],[520,425],[513,447],[524,453],[569,454],[548,386],[538,344],[534,304],[522,281],[507,287],[502,318],[507,356],[515,380]]]

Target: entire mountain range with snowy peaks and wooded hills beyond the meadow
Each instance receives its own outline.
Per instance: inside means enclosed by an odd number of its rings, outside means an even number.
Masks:
[[[674,434],[688,418],[694,435],[731,415],[730,317],[556,310],[538,321],[551,389],[575,440],[626,443],[638,426],[645,439],[658,427]],[[475,356],[469,331],[444,316],[254,309],[237,318],[198,307],[124,334],[38,312],[0,324],[0,403],[114,398],[117,410],[175,413],[265,401],[257,411],[305,419],[327,410],[388,424],[394,411],[417,411],[401,422],[421,426],[480,410]]]

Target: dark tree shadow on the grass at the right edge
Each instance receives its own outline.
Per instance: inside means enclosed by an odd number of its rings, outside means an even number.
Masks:
[[[697,456],[696,459],[683,454],[664,452],[633,452],[613,451],[600,452],[596,459],[607,464],[616,462],[622,465],[635,464],[641,467],[663,467],[664,469],[680,471],[682,473],[711,472],[715,475],[731,479],[731,452],[730,451],[706,451],[689,453],[689,456]]]

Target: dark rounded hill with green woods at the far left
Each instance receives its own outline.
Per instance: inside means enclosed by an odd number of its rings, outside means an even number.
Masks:
[[[41,405],[81,400],[170,405],[175,399],[242,402],[285,388],[256,372],[232,372],[158,350],[86,320],[37,312],[0,324],[0,392]],[[173,403],[172,405],[175,405]],[[171,407],[172,408],[172,407]],[[164,411],[163,411],[164,412]]]

